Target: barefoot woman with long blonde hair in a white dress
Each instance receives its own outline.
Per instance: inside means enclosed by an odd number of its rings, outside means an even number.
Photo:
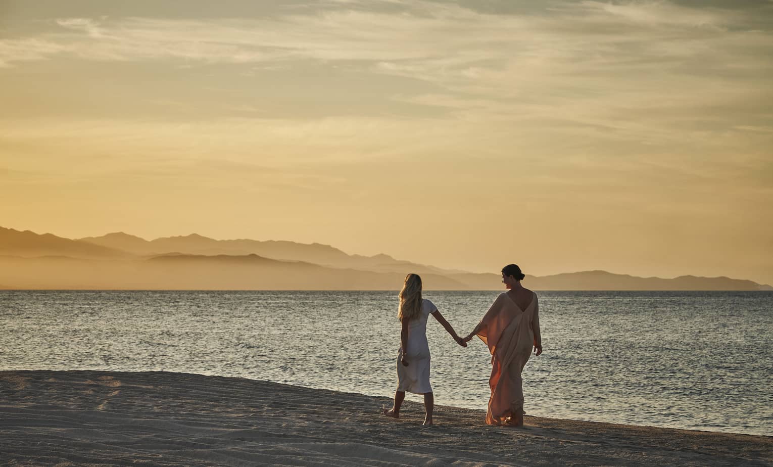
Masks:
[[[397,390],[391,409],[383,409],[387,417],[400,418],[400,406],[405,399],[405,391],[424,394],[424,424],[432,424],[434,395],[430,386],[430,347],[427,343],[427,318],[433,315],[451,334],[456,343],[466,347],[454,328],[432,302],[421,298],[421,278],[418,274],[408,274],[403,290],[400,291],[400,305],[397,319],[400,319],[400,351],[397,353]]]

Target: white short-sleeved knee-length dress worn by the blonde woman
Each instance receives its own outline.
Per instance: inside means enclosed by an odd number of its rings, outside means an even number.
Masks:
[[[427,343],[427,318],[430,313],[438,311],[438,307],[427,299],[421,301],[421,313],[408,322],[408,339],[405,355],[408,366],[400,363],[403,349],[397,353],[397,390],[414,394],[432,392],[430,386],[430,345]]]

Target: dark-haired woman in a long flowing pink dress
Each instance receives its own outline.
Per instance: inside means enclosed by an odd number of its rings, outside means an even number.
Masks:
[[[516,264],[502,268],[502,282],[509,290],[499,294],[489,311],[470,334],[478,336],[491,353],[487,424],[523,426],[523,379],[521,372],[534,355],[542,353],[539,302],[536,294],[521,285],[525,276]]]

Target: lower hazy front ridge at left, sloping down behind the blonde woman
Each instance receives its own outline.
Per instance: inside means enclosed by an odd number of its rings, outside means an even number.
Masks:
[[[464,284],[424,274],[431,288],[463,290]],[[405,274],[328,268],[254,254],[165,254],[115,261],[73,257],[0,256],[0,281],[17,288],[148,290],[393,290]]]

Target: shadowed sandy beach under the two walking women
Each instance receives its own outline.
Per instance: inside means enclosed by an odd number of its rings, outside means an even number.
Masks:
[[[385,390],[386,393],[386,390]],[[188,373],[0,372],[2,465],[771,465],[773,438],[526,416]]]

